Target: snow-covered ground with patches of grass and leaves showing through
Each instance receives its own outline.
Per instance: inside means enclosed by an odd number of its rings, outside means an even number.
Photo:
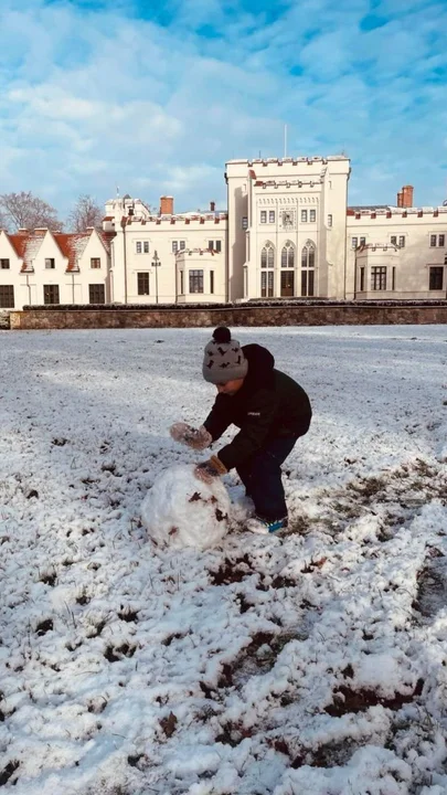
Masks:
[[[207,413],[210,330],[0,331],[4,791],[447,793],[447,328],[235,336],[315,418],[290,534],[198,552],[139,508],[205,457],[168,427]]]

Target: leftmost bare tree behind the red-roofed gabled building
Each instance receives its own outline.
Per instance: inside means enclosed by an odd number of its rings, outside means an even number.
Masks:
[[[3,193],[0,195],[0,216],[6,229],[51,229],[61,230],[63,224],[57,219],[57,211],[31,191],[21,193]]]

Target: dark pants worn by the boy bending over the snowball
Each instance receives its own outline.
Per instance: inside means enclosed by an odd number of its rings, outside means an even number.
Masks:
[[[295,436],[268,439],[248,460],[236,467],[247,495],[255,504],[257,516],[267,521],[287,517],[281,464],[296,441]]]

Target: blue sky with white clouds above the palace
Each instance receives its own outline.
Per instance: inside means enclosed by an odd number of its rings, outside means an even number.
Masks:
[[[226,203],[225,160],[352,160],[447,199],[446,0],[0,0],[0,192]]]

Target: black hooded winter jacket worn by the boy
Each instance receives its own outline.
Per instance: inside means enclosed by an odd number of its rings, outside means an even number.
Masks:
[[[312,410],[302,386],[279,370],[267,348],[244,346],[248,373],[235,395],[219,394],[203,423],[219,439],[228,425],[241,431],[231,444],[219,452],[219,458],[230,470],[258,451],[265,442],[277,436],[304,436],[310,425]]]

